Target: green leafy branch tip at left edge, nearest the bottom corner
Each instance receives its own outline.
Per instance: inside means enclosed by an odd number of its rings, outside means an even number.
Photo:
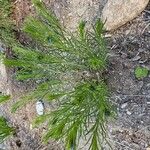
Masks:
[[[0,117],[0,143],[14,133],[15,129],[7,124],[7,120],[4,117]]]

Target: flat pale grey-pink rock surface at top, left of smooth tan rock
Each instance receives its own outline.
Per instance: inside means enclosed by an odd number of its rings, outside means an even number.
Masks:
[[[44,0],[49,8],[55,12],[61,23],[71,32],[77,30],[81,20],[87,25],[95,22],[101,16],[101,12],[107,0]]]

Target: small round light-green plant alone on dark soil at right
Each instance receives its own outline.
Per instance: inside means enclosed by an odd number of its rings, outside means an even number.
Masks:
[[[144,67],[136,67],[135,76],[137,79],[142,79],[147,77],[149,70]]]

